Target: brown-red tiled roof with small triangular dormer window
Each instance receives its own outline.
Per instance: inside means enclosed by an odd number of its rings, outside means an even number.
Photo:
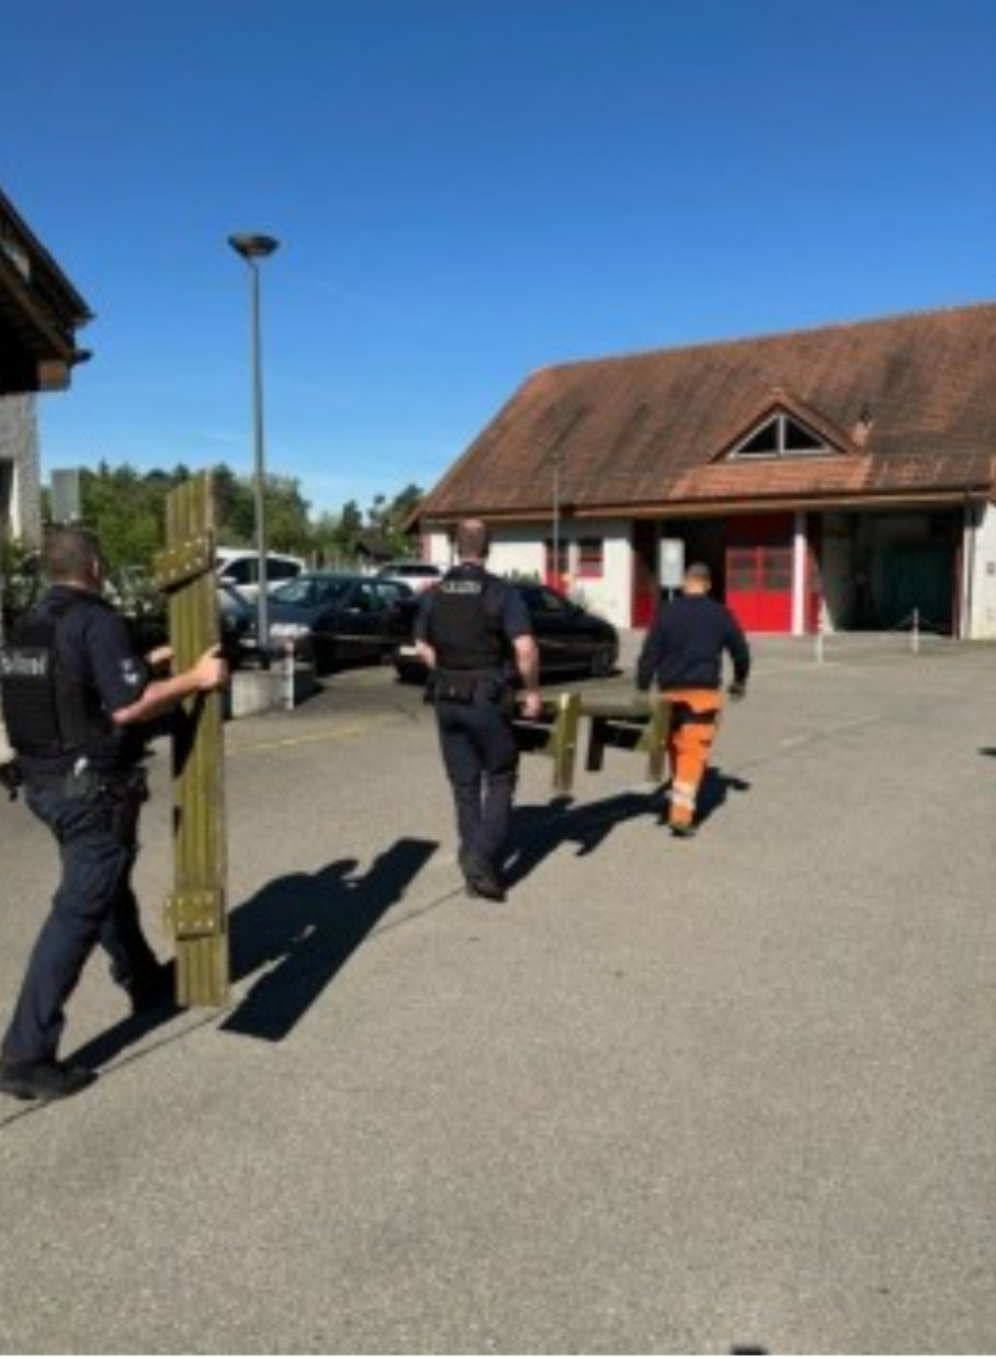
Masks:
[[[840,454],[715,460],[779,406]],[[542,369],[420,516],[549,515],[554,458],[561,505],[588,515],[992,492],[996,304]]]

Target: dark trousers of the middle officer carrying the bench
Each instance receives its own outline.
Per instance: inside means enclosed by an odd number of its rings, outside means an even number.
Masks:
[[[461,851],[500,866],[508,841],[519,747],[511,717],[485,697],[438,702],[436,721],[446,774],[457,804]]]

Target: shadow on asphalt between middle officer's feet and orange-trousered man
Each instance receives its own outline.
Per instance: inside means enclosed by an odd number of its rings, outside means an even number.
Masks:
[[[663,813],[662,788],[651,792],[622,792],[601,801],[577,805],[571,797],[554,797],[541,807],[516,807],[512,812],[510,843],[505,862],[505,884],[514,887],[534,872],[564,843],[576,843],[576,857],[591,854],[607,839],[616,826],[636,816]]]

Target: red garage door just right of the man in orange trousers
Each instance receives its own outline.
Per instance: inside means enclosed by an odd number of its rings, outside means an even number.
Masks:
[[[745,631],[792,630],[792,519],[731,519],[726,602]]]

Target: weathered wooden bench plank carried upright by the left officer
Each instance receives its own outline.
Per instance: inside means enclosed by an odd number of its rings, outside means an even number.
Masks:
[[[168,595],[177,669],[189,669],[220,637],[211,478],[198,475],[166,500],[167,547],[156,580]],[[173,736],[174,891],[166,928],[177,948],[177,1002],[228,999],[227,842],[221,694],[196,694]]]

